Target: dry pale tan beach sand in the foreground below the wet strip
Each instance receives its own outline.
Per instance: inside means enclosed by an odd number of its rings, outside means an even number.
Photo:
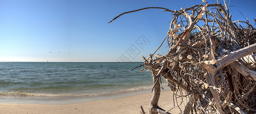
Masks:
[[[145,93],[130,97],[95,100],[68,105],[0,103],[0,114],[140,114],[140,106],[143,106],[146,114],[148,114],[148,106],[152,94]],[[181,99],[177,100],[180,104]],[[173,108],[173,93],[171,91],[161,92],[158,105],[166,110]],[[184,103],[180,107],[181,110],[184,110]],[[170,112],[171,114],[178,114],[180,110],[177,107]]]

